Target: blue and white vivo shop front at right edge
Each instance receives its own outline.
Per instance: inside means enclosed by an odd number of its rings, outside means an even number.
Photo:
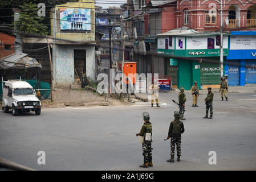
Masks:
[[[229,85],[256,84],[256,31],[231,31],[225,75]]]

